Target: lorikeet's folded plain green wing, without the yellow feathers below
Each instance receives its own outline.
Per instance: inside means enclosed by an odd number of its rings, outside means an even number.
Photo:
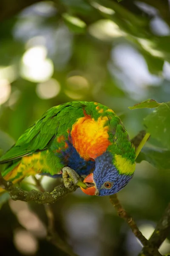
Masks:
[[[21,135],[16,144],[0,157],[0,163],[6,163],[34,152],[46,150],[48,143],[57,135],[58,131],[60,134],[66,132],[68,126],[72,125],[73,117],[74,119],[76,116],[79,117],[83,105],[85,105],[84,102],[83,104],[82,102],[68,102],[46,111],[34,125],[31,125]],[[75,112],[71,111],[73,108],[75,108]],[[76,111],[77,108],[81,108],[80,111]]]

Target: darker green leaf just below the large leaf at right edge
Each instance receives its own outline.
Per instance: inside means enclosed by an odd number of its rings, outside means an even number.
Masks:
[[[168,150],[143,148],[136,158],[136,163],[140,163],[143,160],[157,169],[170,169],[170,151]]]

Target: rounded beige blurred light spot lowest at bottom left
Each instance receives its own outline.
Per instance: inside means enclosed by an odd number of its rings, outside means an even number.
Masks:
[[[33,255],[38,250],[37,239],[30,232],[22,229],[14,231],[14,245],[24,255]]]

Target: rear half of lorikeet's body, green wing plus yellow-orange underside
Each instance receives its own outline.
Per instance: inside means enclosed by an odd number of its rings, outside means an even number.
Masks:
[[[68,137],[68,130],[71,130],[75,120],[83,116],[84,106],[85,102],[68,102],[46,111],[0,157],[0,164],[9,162],[2,171],[3,177],[17,183],[26,176],[38,173],[58,174],[63,164],[54,154],[56,147],[61,146],[61,143],[57,144],[57,137]],[[0,192],[3,190],[0,189]]]

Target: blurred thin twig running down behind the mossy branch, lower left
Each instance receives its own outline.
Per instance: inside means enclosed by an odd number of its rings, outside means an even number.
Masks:
[[[39,189],[41,192],[45,192],[45,190],[43,189],[40,180],[38,180],[36,177],[34,177],[34,180],[36,182],[37,185],[37,189]],[[57,233],[57,231],[54,228],[54,212],[53,209],[51,207],[51,205],[48,204],[44,204],[44,208],[45,208],[45,212],[48,218],[48,227],[47,227],[47,231],[48,231],[48,236],[47,236],[47,240],[49,242],[51,242],[52,244],[54,244],[55,247],[59,248],[60,250],[62,250],[63,252],[67,253],[70,256],[78,256],[77,254],[75,254],[73,252],[73,250],[71,249],[71,247],[65,242],[63,241],[59,234]]]

